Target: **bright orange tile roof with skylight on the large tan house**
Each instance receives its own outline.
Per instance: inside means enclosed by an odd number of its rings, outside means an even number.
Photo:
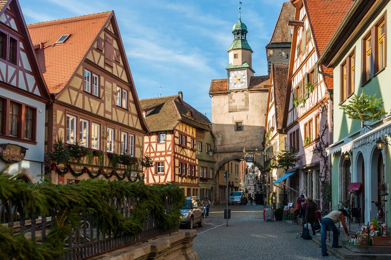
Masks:
[[[33,45],[43,43],[36,54],[50,93],[66,86],[112,15],[109,11],[27,25]],[[55,44],[64,34],[70,34],[65,43]]]

